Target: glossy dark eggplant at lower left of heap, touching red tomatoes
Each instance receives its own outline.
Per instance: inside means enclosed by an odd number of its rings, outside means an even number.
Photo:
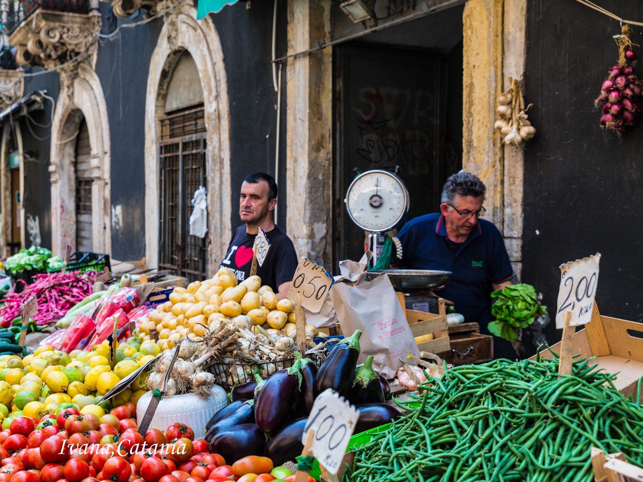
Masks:
[[[266,436],[256,424],[242,424],[219,432],[208,443],[211,454],[219,454],[225,460],[239,460],[249,455],[263,456]]]

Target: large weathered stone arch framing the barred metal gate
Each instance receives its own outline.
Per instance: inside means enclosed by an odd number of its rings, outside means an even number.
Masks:
[[[230,127],[228,83],[219,34],[210,19],[196,19],[196,8],[183,3],[168,17],[150,60],[145,100],[145,259],[158,265],[159,249],[159,120],[172,71],[183,51],[199,71],[206,125],[208,192],[208,270],[215,271],[230,240]]]

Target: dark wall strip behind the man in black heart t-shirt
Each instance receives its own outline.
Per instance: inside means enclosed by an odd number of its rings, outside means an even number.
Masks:
[[[230,103],[232,228],[241,224],[239,192],[255,171],[275,175],[276,103],[272,72],[272,1],[245,2],[211,13],[223,49]],[[276,57],[286,54],[285,0],[277,9]],[[285,64],[282,68],[278,224],[285,228]]]

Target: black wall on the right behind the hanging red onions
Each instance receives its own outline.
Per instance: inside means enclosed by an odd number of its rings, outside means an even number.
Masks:
[[[641,2],[601,6],[643,18]],[[633,30],[631,40],[643,44],[643,29]],[[543,293],[552,317],[558,266],[598,251],[601,313],[643,322],[643,119],[619,139],[601,130],[593,105],[618,58],[617,33],[618,21],[580,3],[528,3],[525,101],[534,103],[537,134],[525,150],[522,278]],[[547,337],[560,339],[553,321]]]

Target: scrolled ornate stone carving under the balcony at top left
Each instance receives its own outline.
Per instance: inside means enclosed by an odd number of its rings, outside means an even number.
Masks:
[[[92,53],[96,48],[94,33],[100,31],[100,25],[100,13],[95,10],[37,10],[12,33],[9,42],[16,47],[17,64],[52,69],[81,53]]]

